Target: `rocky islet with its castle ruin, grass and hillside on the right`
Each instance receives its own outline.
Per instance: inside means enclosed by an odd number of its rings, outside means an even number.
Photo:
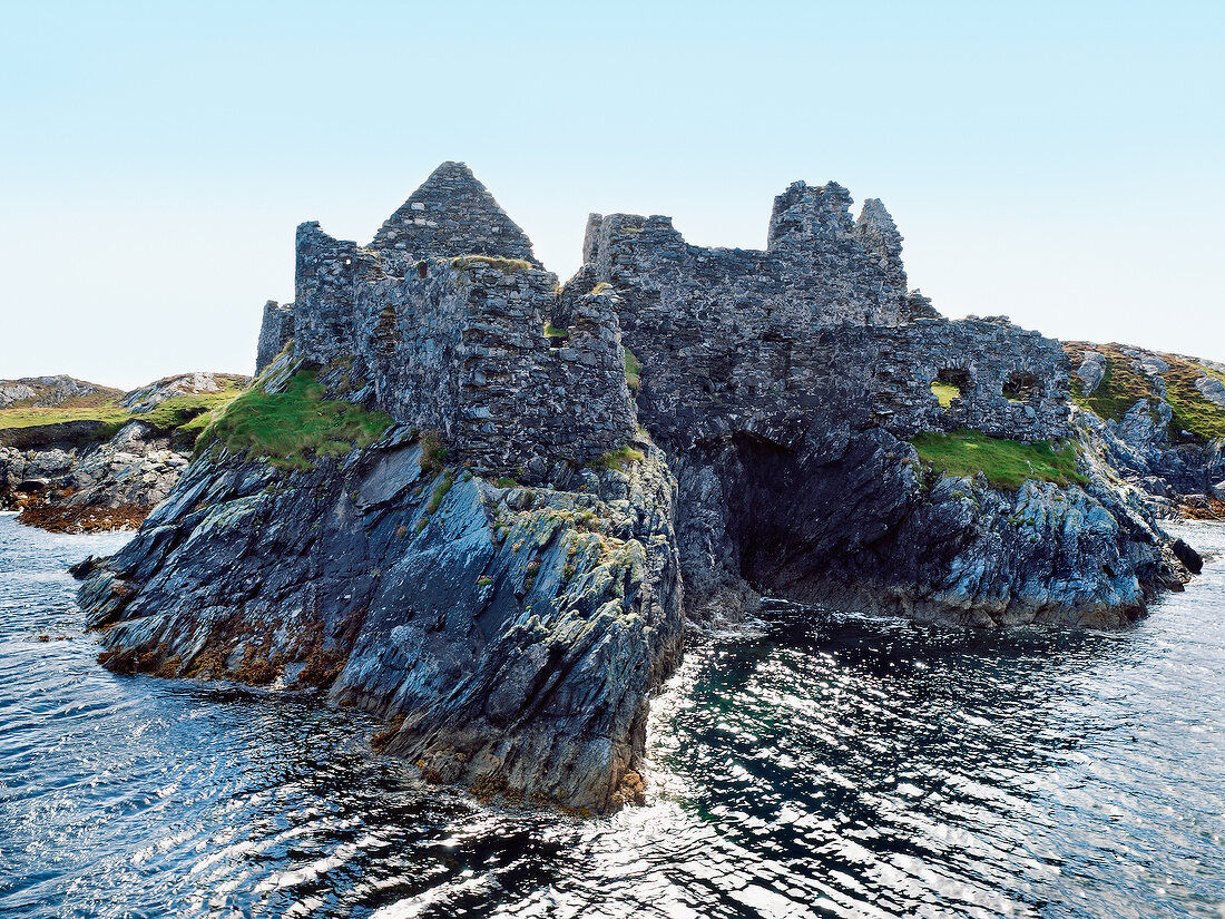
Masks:
[[[320,690],[428,781],[603,812],[686,631],[762,593],[1120,627],[1181,589],[1219,370],[947,320],[850,206],[795,183],[760,251],[593,214],[565,284],[461,163],[369,245],[301,224],[257,379],[81,570],[100,660]]]

